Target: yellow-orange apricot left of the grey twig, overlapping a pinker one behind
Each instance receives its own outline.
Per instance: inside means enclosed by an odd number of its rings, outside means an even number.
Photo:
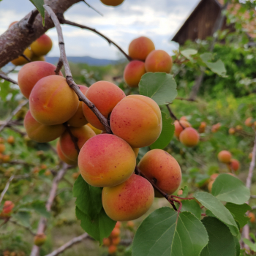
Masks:
[[[45,125],[68,121],[78,110],[78,105],[78,96],[60,75],[40,79],[29,96],[31,115]]]

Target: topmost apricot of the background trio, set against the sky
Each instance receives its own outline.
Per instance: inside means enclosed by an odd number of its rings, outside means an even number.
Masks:
[[[132,59],[145,61],[146,57],[154,50],[154,42],[148,37],[138,37],[129,44],[128,52]]]

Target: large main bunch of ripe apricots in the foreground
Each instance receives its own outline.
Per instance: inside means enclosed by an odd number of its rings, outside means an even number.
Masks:
[[[25,64],[18,73],[18,85],[29,99],[24,127],[32,140],[45,143],[59,138],[57,153],[69,165],[77,165],[83,179],[103,187],[102,204],[116,221],[137,219],[148,211],[154,196],[151,183],[135,175],[139,148],[150,146],[162,131],[161,110],[143,95],[126,97],[114,83],[99,81],[80,91],[108,118],[113,134],[94,112],[80,102],[56,67],[45,61]],[[80,153],[75,147],[78,146]],[[167,194],[181,184],[181,168],[166,151],[148,151],[138,167]]]

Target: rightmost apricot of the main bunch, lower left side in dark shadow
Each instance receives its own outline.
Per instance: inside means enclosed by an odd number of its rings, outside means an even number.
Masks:
[[[157,187],[167,194],[176,192],[181,184],[181,167],[175,158],[162,149],[148,151],[140,160],[138,167],[147,178],[156,181]]]

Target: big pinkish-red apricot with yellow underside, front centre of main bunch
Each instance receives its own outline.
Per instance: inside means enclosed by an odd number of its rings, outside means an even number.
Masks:
[[[135,170],[135,153],[115,135],[96,135],[80,150],[78,167],[83,179],[94,187],[113,187]]]

